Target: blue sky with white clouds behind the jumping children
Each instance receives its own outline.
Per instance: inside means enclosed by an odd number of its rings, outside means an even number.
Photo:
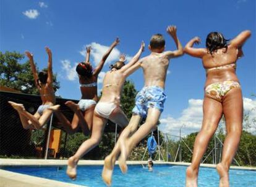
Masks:
[[[2,52],[30,50],[39,68],[46,66],[45,46],[53,51],[53,68],[58,73],[64,98],[80,98],[75,63],[83,60],[88,44],[94,47],[95,65],[101,54],[119,36],[121,42],[103,68],[100,78],[108,71],[109,63],[120,52],[132,57],[143,40],[148,45],[150,36],[163,33],[166,49],[174,50],[173,40],[166,34],[168,25],[177,26],[177,35],[185,46],[194,36],[205,46],[210,31],[220,31],[228,39],[242,30],[251,30],[246,42],[245,56],[238,61],[237,76],[241,81],[245,109],[256,107],[255,66],[255,1],[36,1],[1,0],[0,39]],[[150,52],[146,48],[142,57]],[[137,90],[143,87],[139,70],[128,79]],[[101,81],[100,81],[101,82]],[[188,55],[171,60],[166,79],[166,95],[162,114],[164,132],[176,133],[177,127],[187,124],[187,132],[198,130],[202,121],[203,85],[205,70],[198,58]],[[101,83],[99,84],[101,89]],[[255,113],[256,115],[256,113]],[[184,132],[185,133],[185,132]]]

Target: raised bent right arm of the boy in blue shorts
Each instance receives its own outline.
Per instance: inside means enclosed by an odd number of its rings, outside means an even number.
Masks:
[[[184,52],[183,52],[183,49],[182,49],[181,42],[177,38],[177,28],[176,28],[176,26],[174,26],[174,25],[168,26],[166,31],[173,38],[173,40],[176,44],[177,50],[166,51],[166,52],[164,52],[164,54],[166,54],[168,56],[168,58],[175,58],[175,57],[179,57],[179,56],[183,55]]]

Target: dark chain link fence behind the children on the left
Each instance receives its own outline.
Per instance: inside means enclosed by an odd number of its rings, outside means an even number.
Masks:
[[[35,114],[38,106],[41,105],[41,98],[38,95],[0,92],[0,157],[64,159],[74,155],[82,142],[89,138],[83,135],[82,130],[73,134],[66,133],[53,115],[46,156],[49,122],[39,130],[23,129],[19,114],[7,101],[22,103],[31,114]],[[61,105],[61,112],[69,121],[72,121],[74,113],[64,105],[66,101],[63,98],[57,98],[56,104]],[[119,127],[116,129],[115,124],[109,122],[105,128],[103,141],[83,158],[103,159],[109,154],[109,146],[114,147],[114,139],[117,138],[115,132],[120,130]]]

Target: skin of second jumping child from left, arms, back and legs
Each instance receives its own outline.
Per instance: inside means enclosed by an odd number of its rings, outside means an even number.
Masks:
[[[79,82],[80,84],[90,84],[93,82],[97,82],[98,80],[98,74],[101,72],[106,59],[108,58],[111,51],[114,49],[114,47],[117,46],[119,43],[119,39],[116,38],[116,40],[111,44],[109,49],[105,52],[103,57],[101,58],[100,63],[98,63],[98,66],[96,66],[95,70],[93,71],[92,77],[86,78],[84,76],[79,75]],[[91,46],[88,46],[86,48],[87,55],[85,58],[85,63],[88,63],[90,66],[90,52],[92,50]],[[98,94],[97,94],[97,87],[80,87],[82,98],[81,99],[90,99],[98,101]],[[69,122],[69,120],[64,116],[64,114],[59,111],[60,105],[55,105],[49,109],[52,109],[54,111],[54,114],[58,117],[59,121],[61,122],[61,125],[64,127],[64,129],[69,133],[75,133],[79,129],[82,129],[82,132],[85,135],[89,135],[92,130],[92,122],[93,122],[93,111],[96,105],[92,105],[89,108],[87,108],[85,111],[81,111],[79,108],[79,105],[74,103],[73,101],[67,101],[65,103],[67,106],[69,106],[72,111],[74,111],[74,117],[72,119],[72,122]]]

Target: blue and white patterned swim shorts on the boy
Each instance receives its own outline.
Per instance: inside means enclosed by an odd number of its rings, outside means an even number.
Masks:
[[[158,86],[143,87],[136,95],[135,107],[132,112],[142,117],[147,116],[148,108],[156,108],[163,111],[163,104],[166,99],[164,89]]]

